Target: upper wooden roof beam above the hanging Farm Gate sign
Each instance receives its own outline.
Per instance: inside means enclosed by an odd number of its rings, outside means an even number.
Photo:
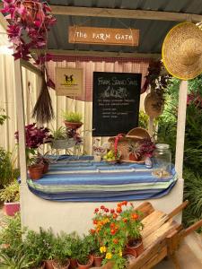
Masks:
[[[145,19],[171,22],[201,22],[202,15],[191,13],[169,13],[148,10],[133,10],[123,8],[99,8],[66,5],[50,5],[52,13],[56,15],[71,15],[84,17],[108,17],[126,19]]]

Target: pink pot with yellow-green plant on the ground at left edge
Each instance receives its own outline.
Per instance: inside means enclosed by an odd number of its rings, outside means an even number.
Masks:
[[[0,199],[4,201],[4,212],[6,215],[13,216],[20,211],[20,191],[17,180],[0,191]]]

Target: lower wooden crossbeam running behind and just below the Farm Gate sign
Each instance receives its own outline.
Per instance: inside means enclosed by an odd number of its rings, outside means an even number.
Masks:
[[[38,51],[33,49],[32,52]],[[155,58],[160,59],[161,54],[156,53],[134,53],[134,52],[110,52],[110,51],[92,51],[92,50],[63,50],[63,49],[48,49],[48,53],[53,55],[68,55],[68,56],[106,56],[106,57],[134,57],[134,58]]]

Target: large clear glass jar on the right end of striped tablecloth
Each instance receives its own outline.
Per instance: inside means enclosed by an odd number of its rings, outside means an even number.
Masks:
[[[155,145],[153,158],[153,175],[158,178],[171,176],[171,151],[167,143],[157,143]]]

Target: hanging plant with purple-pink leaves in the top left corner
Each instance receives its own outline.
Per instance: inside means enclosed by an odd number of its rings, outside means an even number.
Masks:
[[[56,19],[48,4],[40,0],[3,0],[3,3],[2,13],[8,13],[5,18],[9,20],[7,33],[9,41],[13,42],[14,59],[29,61],[31,49],[46,48],[48,30]],[[37,56],[36,64],[43,64],[43,56]]]

